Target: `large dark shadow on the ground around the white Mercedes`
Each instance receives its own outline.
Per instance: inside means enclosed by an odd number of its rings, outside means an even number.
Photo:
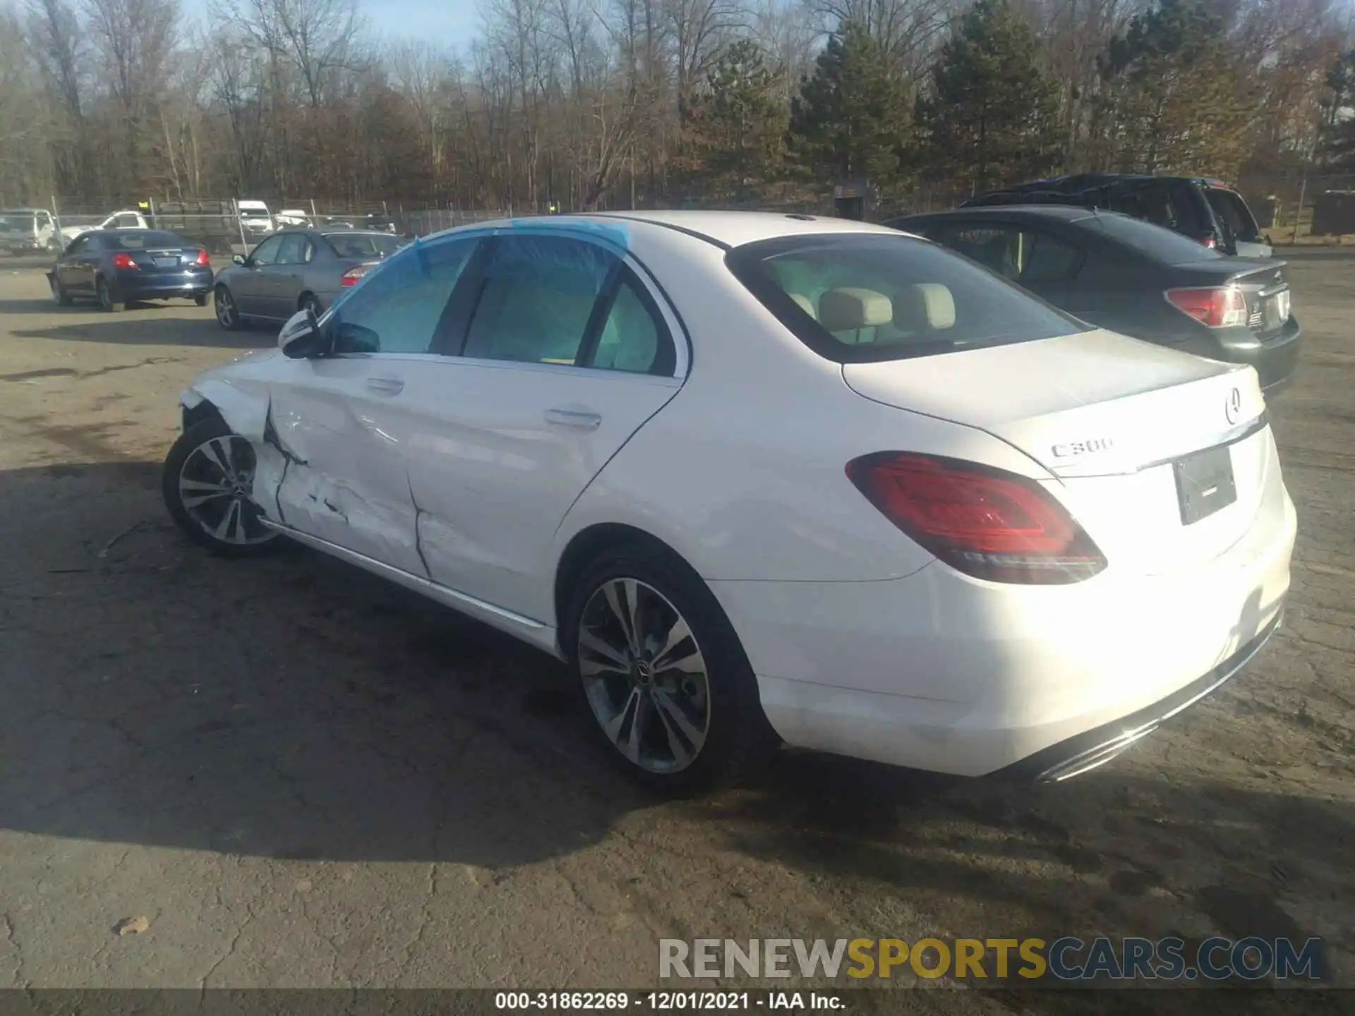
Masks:
[[[882,925],[989,937],[1304,939],[1314,899],[1355,902],[1348,806],[1145,772],[1153,740],[1019,786],[783,750],[741,787],[660,802],[596,750],[557,661],[301,549],[213,558],[159,486],[150,462],[0,473],[0,828],[497,876],[660,809],[717,855],[840,879]]]

